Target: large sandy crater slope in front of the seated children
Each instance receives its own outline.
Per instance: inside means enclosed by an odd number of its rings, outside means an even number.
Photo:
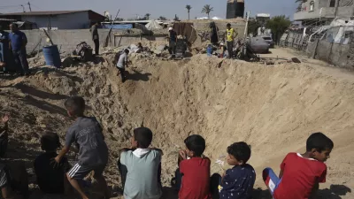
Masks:
[[[12,113],[9,157],[31,167],[40,153],[41,134],[52,131],[64,138],[72,123],[64,99],[79,95],[88,103],[88,115],[104,126],[111,156],[105,176],[111,184],[119,185],[118,150],[129,145],[137,126],[150,127],[153,147],[164,149],[165,186],[177,168],[184,138],[202,134],[212,162],[226,155],[232,142],[248,142],[250,165],[258,174],[256,188],[262,189],[264,167],[278,172],[287,153],[303,152],[309,134],[321,131],[334,140],[335,149],[320,195],[353,197],[347,193],[354,188],[352,74],[306,64],[269,67],[197,55],[177,62],[135,59],[121,84],[112,63],[101,61],[64,70],[38,67],[29,78],[0,80],[0,113]],[[212,165],[212,172],[219,170]]]

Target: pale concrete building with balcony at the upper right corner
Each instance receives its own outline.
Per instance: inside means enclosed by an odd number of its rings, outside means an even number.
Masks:
[[[354,15],[354,0],[307,0],[301,10],[294,14],[294,20],[302,21],[304,27],[329,24],[335,18]]]

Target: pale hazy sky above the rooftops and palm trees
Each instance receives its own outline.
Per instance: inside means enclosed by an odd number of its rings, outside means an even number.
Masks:
[[[28,10],[28,0],[0,0],[0,12],[22,11],[20,4]],[[101,14],[109,11],[112,18],[120,9],[120,18],[134,18],[136,14],[143,16],[150,13],[151,18],[164,16],[173,19],[174,14],[180,19],[188,19],[186,4],[192,6],[190,18],[204,17],[201,13],[204,4],[211,4],[214,11],[211,17],[226,18],[227,0],[29,0],[32,11],[68,11],[93,10]],[[246,11],[251,16],[257,13],[270,13],[272,16],[284,14],[292,19],[296,9],[295,0],[245,0]]]

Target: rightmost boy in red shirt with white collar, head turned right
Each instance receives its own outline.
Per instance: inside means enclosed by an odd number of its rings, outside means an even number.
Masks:
[[[319,183],[326,182],[324,164],[334,147],[325,134],[310,135],[304,154],[289,153],[281,163],[279,178],[271,168],[263,171],[263,180],[274,199],[307,199],[316,196]]]

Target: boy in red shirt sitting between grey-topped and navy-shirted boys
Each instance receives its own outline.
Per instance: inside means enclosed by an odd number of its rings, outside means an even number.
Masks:
[[[198,134],[190,135],[186,140],[186,149],[180,151],[179,165],[182,175],[180,199],[210,198],[210,165],[208,157],[202,157],[205,140]]]

